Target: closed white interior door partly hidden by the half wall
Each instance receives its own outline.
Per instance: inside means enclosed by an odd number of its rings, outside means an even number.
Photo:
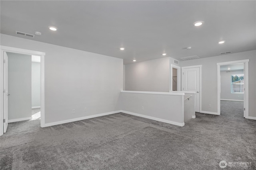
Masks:
[[[182,68],[183,91],[196,92],[195,111],[200,112],[200,68]]]

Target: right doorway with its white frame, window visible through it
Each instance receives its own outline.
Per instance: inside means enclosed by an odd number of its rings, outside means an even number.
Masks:
[[[248,62],[239,60],[217,63],[218,115],[238,111],[241,116],[248,118]]]

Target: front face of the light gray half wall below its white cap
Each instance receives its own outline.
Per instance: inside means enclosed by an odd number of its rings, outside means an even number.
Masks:
[[[126,92],[120,94],[122,110],[178,123],[184,123],[183,100],[184,97],[180,95]]]

